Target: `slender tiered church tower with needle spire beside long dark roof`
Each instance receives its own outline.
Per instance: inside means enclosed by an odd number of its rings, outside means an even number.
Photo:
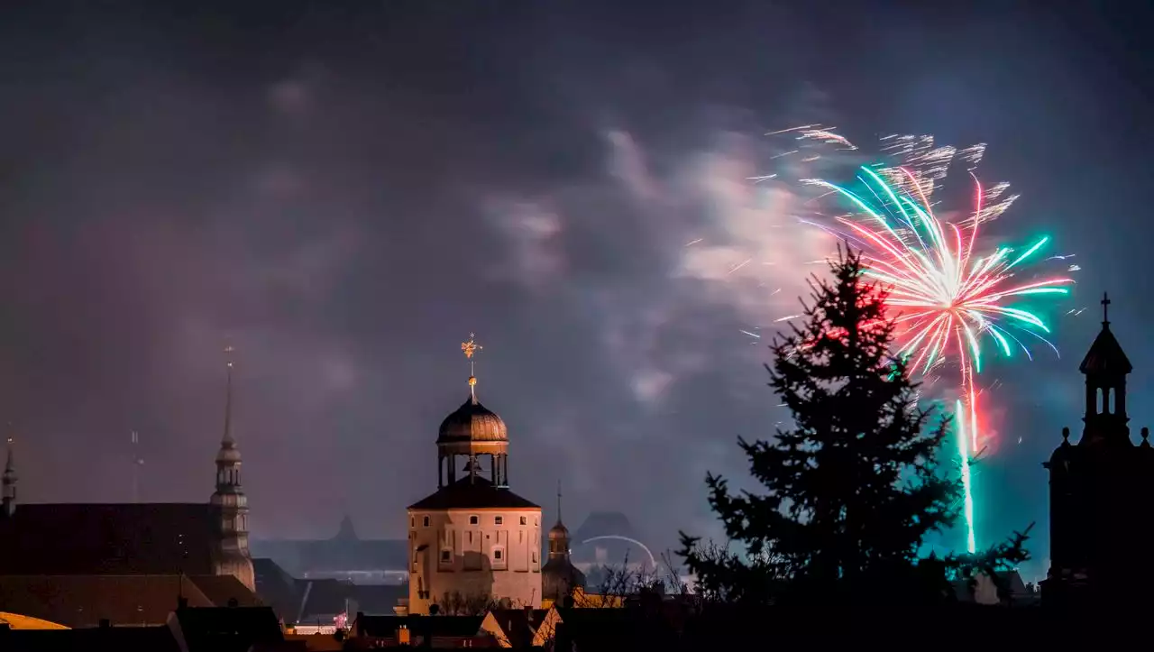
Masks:
[[[232,575],[250,591],[256,590],[253,560],[248,553],[248,499],[240,485],[240,449],[232,437],[232,346],[225,368],[224,435],[216,457],[216,492],[211,503],[219,508],[220,550],[217,575]]]

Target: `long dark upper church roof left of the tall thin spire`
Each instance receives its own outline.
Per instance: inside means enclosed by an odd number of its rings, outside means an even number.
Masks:
[[[212,575],[209,503],[20,504],[0,519],[0,575]]]

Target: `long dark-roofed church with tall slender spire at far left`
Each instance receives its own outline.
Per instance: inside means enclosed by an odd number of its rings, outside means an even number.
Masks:
[[[9,440],[0,478],[0,576],[218,575],[235,577],[252,592],[248,504],[240,465],[232,437],[231,361],[216,492],[208,502],[20,503]]]

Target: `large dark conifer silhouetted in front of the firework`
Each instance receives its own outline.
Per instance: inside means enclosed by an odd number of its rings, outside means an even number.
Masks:
[[[886,291],[863,280],[861,256],[839,249],[831,269],[832,283],[810,282],[805,323],[778,337],[766,366],[793,428],[773,442],[739,440],[765,494],[733,495],[706,478],[710,504],[747,554],[704,555],[684,533],[681,554],[702,590],[729,600],[944,599],[951,569],[1022,559],[1025,535],[980,560],[919,563],[926,535],[957,516],[960,485],[936,459],[949,419],[924,430],[930,412],[891,355]]]

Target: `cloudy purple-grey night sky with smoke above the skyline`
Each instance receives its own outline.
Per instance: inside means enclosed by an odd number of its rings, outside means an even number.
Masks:
[[[983,178],[1022,195],[990,231],[1082,267],[1062,359],[984,373],[980,542],[1037,520],[1044,569],[1041,462],[1080,429],[1104,290],[1136,439],[1154,421],[1140,3],[18,5],[0,412],[22,500],[130,500],[134,429],[142,500],[207,500],[232,343],[254,535],[350,514],[400,538],[475,331],[515,490],[552,512],[560,480],[571,527],[620,509],[654,548],[715,533],[705,472],[741,484],[736,437],[786,418],[739,330],[795,313],[829,248],[770,226],[788,186],[745,180],[765,132],[805,122],[988,143]],[[727,273],[749,256],[773,264]]]

